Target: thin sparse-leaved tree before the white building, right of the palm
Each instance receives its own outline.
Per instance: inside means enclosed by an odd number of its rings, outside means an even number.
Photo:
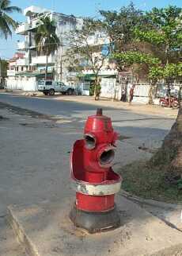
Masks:
[[[99,72],[112,48],[110,43],[104,45],[104,41],[100,39],[95,42],[97,35],[102,35],[103,38],[106,35],[102,23],[91,18],[85,19],[82,29],[76,29],[68,35],[70,48],[67,51],[67,61],[72,70],[82,71],[88,68],[93,72],[95,99],[99,99],[100,96]]]

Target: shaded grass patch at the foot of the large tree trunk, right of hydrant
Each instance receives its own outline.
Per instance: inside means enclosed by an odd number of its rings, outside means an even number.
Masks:
[[[120,169],[122,188],[135,196],[161,200],[167,203],[182,203],[182,188],[166,180],[165,167],[151,167],[144,161],[136,161]]]

